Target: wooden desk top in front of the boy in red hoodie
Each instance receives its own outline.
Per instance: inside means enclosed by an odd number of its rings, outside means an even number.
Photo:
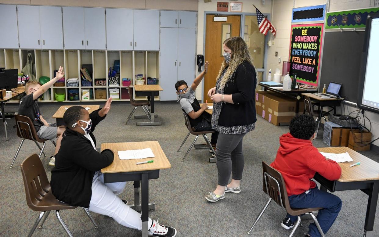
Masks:
[[[349,153],[353,161],[338,163],[342,169],[341,177],[338,179],[340,182],[379,179],[379,163],[348,147],[323,147],[318,148],[318,151],[327,153],[345,153],[347,151]],[[360,162],[360,165],[349,167],[357,162]]]

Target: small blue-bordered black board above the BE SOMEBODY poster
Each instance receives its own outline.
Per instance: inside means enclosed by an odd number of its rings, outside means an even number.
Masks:
[[[324,21],[326,4],[317,6],[306,6],[302,8],[292,9],[292,23],[294,22],[310,22],[322,20]]]

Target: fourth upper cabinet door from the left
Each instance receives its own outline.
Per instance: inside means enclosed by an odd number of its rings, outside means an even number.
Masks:
[[[84,8],[63,8],[63,39],[65,49],[85,49]]]

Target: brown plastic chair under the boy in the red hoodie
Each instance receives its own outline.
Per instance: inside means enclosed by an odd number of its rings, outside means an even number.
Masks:
[[[320,232],[321,236],[324,237],[324,232],[322,231],[315,215],[312,213],[312,212],[322,209],[322,207],[291,208],[290,202],[288,201],[287,189],[285,187],[285,182],[283,180],[282,174],[276,169],[274,169],[273,167],[269,166],[264,161],[262,162],[262,168],[263,168],[263,192],[269,195],[270,198],[268,199],[268,202],[266,203],[266,205],[263,207],[262,211],[258,215],[257,219],[255,219],[255,222],[253,226],[251,227],[250,231],[247,233],[251,234],[252,229],[254,228],[255,224],[257,224],[263,212],[265,212],[270,202],[274,200],[277,204],[279,204],[279,206],[286,209],[288,214],[298,216],[298,221],[296,221],[296,224],[294,225],[288,237],[292,237],[293,234],[295,233],[296,229],[300,225],[301,215],[303,214],[309,214],[312,217],[313,221],[315,221],[315,225],[317,226],[318,231]]]

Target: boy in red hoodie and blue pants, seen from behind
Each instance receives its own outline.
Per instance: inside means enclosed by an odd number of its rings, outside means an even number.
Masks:
[[[290,132],[279,138],[280,147],[271,166],[282,173],[291,207],[323,207],[318,212],[317,220],[326,234],[337,218],[342,202],[338,196],[319,190],[312,178],[318,172],[329,180],[336,180],[341,176],[341,167],[335,161],[327,160],[313,147],[316,122],[312,116],[293,118],[289,128]],[[297,219],[297,216],[287,213],[281,225],[290,229]],[[320,236],[316,225],[310,223],[305,237]]]

